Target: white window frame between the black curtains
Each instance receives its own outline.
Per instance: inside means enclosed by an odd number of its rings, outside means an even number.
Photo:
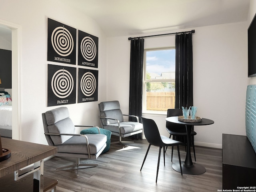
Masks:
[[[170,79],[145,79],[146,78],[146,66],[147,66],[147,60],[146,60],[146,53],[148,51],[157,51],[157,50],[170,50],[175,49],[175,46],[168,46],[168,47],[161,47],[161,48],[146,48],[144,49],[144,60],[143,60],[143,76],[142,76],[142,115],[154,115],[154,116],[166,116],[166,111],[155,111],[155,110],[146,110],[146,83],[147,82],[170,82]]]

